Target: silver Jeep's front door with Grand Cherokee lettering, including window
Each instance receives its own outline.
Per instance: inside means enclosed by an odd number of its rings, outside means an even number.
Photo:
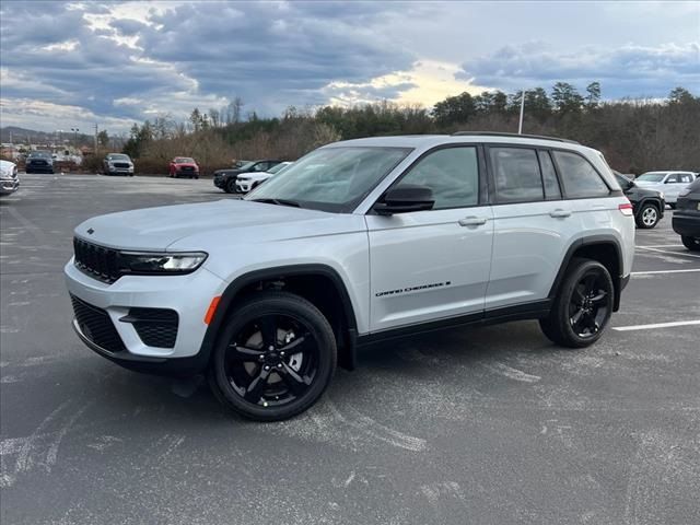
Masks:
[[[394,184],[432,189],[432,210],[368,214],[370,329],[481,315],[491,267],[492,212],[480,203],[476,147],[434,150]]]

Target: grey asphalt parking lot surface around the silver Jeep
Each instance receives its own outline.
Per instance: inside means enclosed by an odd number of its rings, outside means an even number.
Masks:
[[[638,230],[594,347],[537,323],[364,352],[282,423],[205,386],[128,372],[75,337],[72,229],[110,211],[234,198],[211,180],[21,175],[0,199],[3,524],[698,524],[700,256],[670,210]]]

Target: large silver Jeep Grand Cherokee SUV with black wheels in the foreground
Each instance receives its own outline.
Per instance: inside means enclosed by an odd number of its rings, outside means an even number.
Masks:
[[[207,371],[257,420],[314,404],[360,346],[539,319],[586,347],[619,308],[632,207],[603,155],[497,133],[307,154],[243,200],[97,217],[66,266],[80,338],[124,366]]]

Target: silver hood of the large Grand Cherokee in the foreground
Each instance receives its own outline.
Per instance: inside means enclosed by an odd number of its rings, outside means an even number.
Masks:
[[[119,249],[208,249],[209,245],[222,243],[259,243],[308,236],[310,232],[327,235],[348,231],[348,226],[338,225],[347,221],[334,220],[338,217],[350,215],[223,199],[109,213],[89,219],[74,232],[88,242]],[[177,246],[173,246],[175,243]]]

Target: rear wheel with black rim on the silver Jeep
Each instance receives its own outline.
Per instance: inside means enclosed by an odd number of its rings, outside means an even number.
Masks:
[[[607,268],[597,260],[574,258],[549,316],[540,319],[539,326],[557,345],[588,347],[603,336],[612,315],[614,298],[615,287]]]

